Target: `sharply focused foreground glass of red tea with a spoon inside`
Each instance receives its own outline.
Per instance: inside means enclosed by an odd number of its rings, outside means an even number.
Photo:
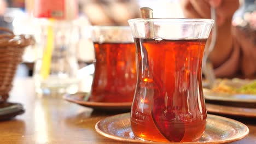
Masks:
[[[138,80],[131,107],[137,139],[192,142],[206,127],[202,57],[213,20],[132,19]]]

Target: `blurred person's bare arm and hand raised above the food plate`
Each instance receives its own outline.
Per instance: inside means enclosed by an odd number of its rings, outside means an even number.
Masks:
[[[238,70],[239,50],[234,47],[231,32],[232,15],[239,7],[238,0],[182,0],[183,13],[189,18],[211,19],[210,7],[216,9],[217,40],[209,59],[217,77],[232,76]],[[208,44],[211,43],[211,37]],[[234,63],[235,62],[235,63]],[[225,66],[225,68],[223,68]],[[223,71],[224,70],[224,71]]]

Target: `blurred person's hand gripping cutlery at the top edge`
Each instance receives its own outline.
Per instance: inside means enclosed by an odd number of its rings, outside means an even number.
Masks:
[[[218,26],[224,25],[232,19],[232,15],[239,7],[238,0],[181,0],[181,7],[185,17],[210,19],[210,8],[216,9]]]

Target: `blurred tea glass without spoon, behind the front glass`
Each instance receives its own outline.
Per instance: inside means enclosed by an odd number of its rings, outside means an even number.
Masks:
[[[91,100],[132,103],[135,93],[136,48],[129,26],[94,26],[95,73]]]

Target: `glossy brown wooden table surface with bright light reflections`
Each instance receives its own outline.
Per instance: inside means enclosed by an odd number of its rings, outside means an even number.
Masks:
[[[10,121],[0,122],[0,143],[123,143],[95,131],[100,119],[116,115],[93,111],[61,98],[38,98],[32,79],[16,79],[8,101],[24,104],[26,112]],[[250,133],[233,143],[256,143],[256,118],[236,118]]]

